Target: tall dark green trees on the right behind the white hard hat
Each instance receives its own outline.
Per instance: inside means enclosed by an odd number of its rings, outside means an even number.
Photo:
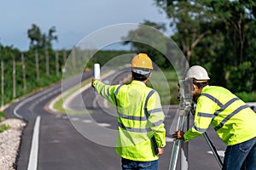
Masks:
[[[183,51],[189,65],[207,68],[212,85],[256,99],[256,3],[254,0],[153,0],[170,25],[145,20],[143,24],[165,31]],[[143,35],[142,28],[128,37]],[[145,34],[145,33],[144,33]],[[148,36],[148,35],[146,35]],[[137,51],[154,49],[131,42]],[[167,47],[167,45],[166,45]],[[163,60],[161,54],[154,58]],[[158,56],[158,57],[156,57]],[[160,65],[168,67],[168,62]],[[250,100],[250,99],[248,99]]]

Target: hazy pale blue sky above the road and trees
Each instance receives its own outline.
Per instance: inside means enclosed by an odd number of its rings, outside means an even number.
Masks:
[[[0,43],[26,51],[27,30],[36,24],[47,33],[55,26],[58,42],[53,48],[73,48],[84,37],[106,26],[168,23],[154,0],[4,0],[0,4]]]

